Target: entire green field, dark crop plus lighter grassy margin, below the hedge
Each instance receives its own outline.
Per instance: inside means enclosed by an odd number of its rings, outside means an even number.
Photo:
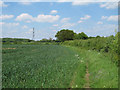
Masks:
[[[89,82],[86,81],[86,63]],[[104,53],[60,45],[3,45],[3,88],[117,88],[117,66]]]

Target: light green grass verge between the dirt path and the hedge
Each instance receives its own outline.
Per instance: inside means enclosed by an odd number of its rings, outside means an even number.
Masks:
[[[88,62],[90,88],[118,88],[118,67],[109,54],[73,47],[81,60]]]

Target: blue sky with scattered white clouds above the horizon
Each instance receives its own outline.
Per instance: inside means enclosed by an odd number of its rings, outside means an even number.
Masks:
[[[1,5],[2,4],[2,5]],[[113,2],[1,2],[3,38],[55,39],[62,29],[88,36],[115,35],[118,3]]]

